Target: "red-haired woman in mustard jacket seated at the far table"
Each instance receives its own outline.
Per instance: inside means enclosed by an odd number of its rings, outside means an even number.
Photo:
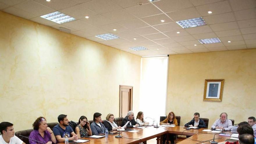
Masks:
[[[167,118],[160,122],[160,125],[176,125],[177,126],[178,122],[177,122],[174,112],[171,111],[168,114]],[[173,134],[169,134],[169,139],[172,144],[174,143],[174,136],[175,135],[173,135]],[[165,141],[166,141],[166,135],[163,136],[163,143],[165,143]],[[168,142],[166,142],[166,143],[168,143]]]

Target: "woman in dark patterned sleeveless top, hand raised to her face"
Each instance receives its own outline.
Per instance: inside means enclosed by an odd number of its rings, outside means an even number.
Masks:
[[[87,121],[86,116],[81,116],[79,118],[78,125],[75,128],[75,133],[78,135],[78,138],[85,138],[86,136],[92,135],[90,122]]]

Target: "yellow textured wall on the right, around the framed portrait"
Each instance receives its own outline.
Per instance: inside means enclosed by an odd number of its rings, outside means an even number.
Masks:
[[[235,123],[256,116],[256,49],[171,55],[166,113],[181,116],[181,125],[193,118],[209,118],[209,126],[227,112]],[[222,102],[203,101],[205,79],[225,79]]]

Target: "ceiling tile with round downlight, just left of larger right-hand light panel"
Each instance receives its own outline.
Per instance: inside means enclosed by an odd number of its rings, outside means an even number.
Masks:
[[[150,25],[165,24],[165,23],[173,22],[173,20],[171,20],[165,14],[143,17],[141,19]],[[165,21],[161,22],[161,20],[165,20]]]

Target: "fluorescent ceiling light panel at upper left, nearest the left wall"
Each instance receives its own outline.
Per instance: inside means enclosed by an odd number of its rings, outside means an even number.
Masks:
[[[41,17],[48,19],[50,21],[56,22],[58,24],[63,24],[65,22],[71,22],[71,21],[76,20],[74,17],[70,17],[70,16],[65,15],[64,13],[60,13],[60,12],[49,13],[49,14],[43,15]]]

